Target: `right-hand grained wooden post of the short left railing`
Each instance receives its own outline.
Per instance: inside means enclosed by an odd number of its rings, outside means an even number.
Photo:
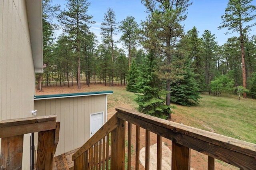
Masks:
[[[55,130],[38,132],[36,164],[38,170],[52,169]]]

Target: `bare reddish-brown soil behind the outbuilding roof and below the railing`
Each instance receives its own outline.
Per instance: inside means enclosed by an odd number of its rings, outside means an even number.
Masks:
[[[129,99],[125,96],[126,87],[121,86],[120,84],[116,83],[114,87],[105,86],[104,84],[90,84],[88,85],[82,83],[81,89],[77,89],[76,83],[74,86],[68,87],[68,85],[60,87],[60,85],[54,84],[52,87],[43,87],[43,91],[39,91],[36,89],[36,95],[53,95],[53,94],[65,94],[65,93],[84,93],[84,92],[94,92],[94,91],[113,91],[112,95],[108,95],[108,119],[112,117],[116,111],[115,108],[117,107],[124,107],[126,109],[136,111],[136,106],[134,102],[129,101]],[[124,92],[124,93],[122,93]],[[172,120],[177,123],[184,123],[186,124],[187,120],[186,117],[182,116],[182,114],[172,114]],[[128,128],[128,123],[126,123],[126,128]],[[136,146],[136,126],[132,126],[132,166],[135,167],[135,146]],[[126,134],[127,135],[127,134]],[[167,146],[170,150],[172,150],[172,141],[162,138],[162,142],[164,145]],[[157,135],[154,133],[150,133],[150,145],[154,145],[157,143]],[[145,130],[140,128],[140,150],[145,147]],[[143,153],[143,152],[142,152]],[[164,156],[164,155],[163,155]],[[165,155],[165,159],[168,155]],[[169,155],[169,161],[171,162],[171,156]],[[206,170],[207,169],[207,162],[208,157],[200,152],[195,150],[191,150],[191,168],[194,170]],[[154,162],[152,162],[154,164]],[[162,164],[163,169],[164,164]],[[168,167],[169,165],[166,165]],[[135,168],[134,168],[135,169]],[[140,169],[144,170],[144,166],[140,163]],[[216,170],[234,170],[238,169],[234,166],[230,166],[229,164],[225,164],[220,161],[216,161]]]

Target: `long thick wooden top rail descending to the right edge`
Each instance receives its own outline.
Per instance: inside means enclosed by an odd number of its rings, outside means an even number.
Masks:
[[[181,125],[128,109],[117,108],[117,117],[173,142],[242,169],[256,168],[256,144]]]

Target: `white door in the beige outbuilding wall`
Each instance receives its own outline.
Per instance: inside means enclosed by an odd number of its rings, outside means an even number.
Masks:
[[[103,112],[90,115],[90,137],[94,135],[103,125]]]

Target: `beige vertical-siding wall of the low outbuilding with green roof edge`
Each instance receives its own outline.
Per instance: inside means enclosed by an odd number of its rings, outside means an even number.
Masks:
[[[39,99],[34,101],[37,116],[57,115],[60,140],[55,155],[81,147],[90,138],[90,114],[103,112],[106,121],[106,95]]]

